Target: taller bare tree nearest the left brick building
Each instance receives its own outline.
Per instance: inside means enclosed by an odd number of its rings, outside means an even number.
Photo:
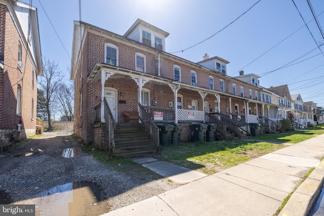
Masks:
[[[44,58],[43,60],[43,73],[44,76],[41,76],[38,84],[44,91],[45,107],[49,121],[49,131],[51,131],[51,114],[53,112],[53,108],[55,108],[54,104],[56,104],[55,93],[61,84],[63,75],[58,63],[55,61],[50,61],[48,58]]]

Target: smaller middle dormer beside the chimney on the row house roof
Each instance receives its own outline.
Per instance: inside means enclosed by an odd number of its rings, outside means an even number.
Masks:
[[[226,65],[229,63],[229,61],[226,61],[218,56],[209,58],[209,55],[207,54],[205,54],[203,58],[203,61],[197,62],[196,64],[227,75]]]

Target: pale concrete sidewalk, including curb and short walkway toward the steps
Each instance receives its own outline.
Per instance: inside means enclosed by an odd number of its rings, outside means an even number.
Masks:
[[[143,166],[184,185],[104,215],[273,215],[316,167],[280,212],[306,215],[324,179],[323,157],[324,135],[320,135],[211,176],[153,158],[140,159]]]

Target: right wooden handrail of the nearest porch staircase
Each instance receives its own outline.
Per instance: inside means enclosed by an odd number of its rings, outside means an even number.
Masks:
[[[154,123],[152,118],[149,116],[149,114],[145,111],[143,106],[138,103],[139,106],[139,118],[145,127],[146,131],[150,135],[151,139],[154,141],[154,143],[159,146],[159,131],[158,126]]]

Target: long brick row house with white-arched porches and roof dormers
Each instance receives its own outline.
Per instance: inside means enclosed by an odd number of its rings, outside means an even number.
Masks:
[[[116,131],[131,127],[130,115],[157,145],[154,131],[161,122],[181,123],[183,141],[197,122],[217,124],[220,140],[224,130],[238,138],[251,135],[248,123],[277,124],[283,108],[259,76],[240,71],[230,77],[229,62],[217,56],[193,63],[167,53],[168,35],[141,19],[124,35],[74,21],[70,78],[78,137],[114,151]]]

